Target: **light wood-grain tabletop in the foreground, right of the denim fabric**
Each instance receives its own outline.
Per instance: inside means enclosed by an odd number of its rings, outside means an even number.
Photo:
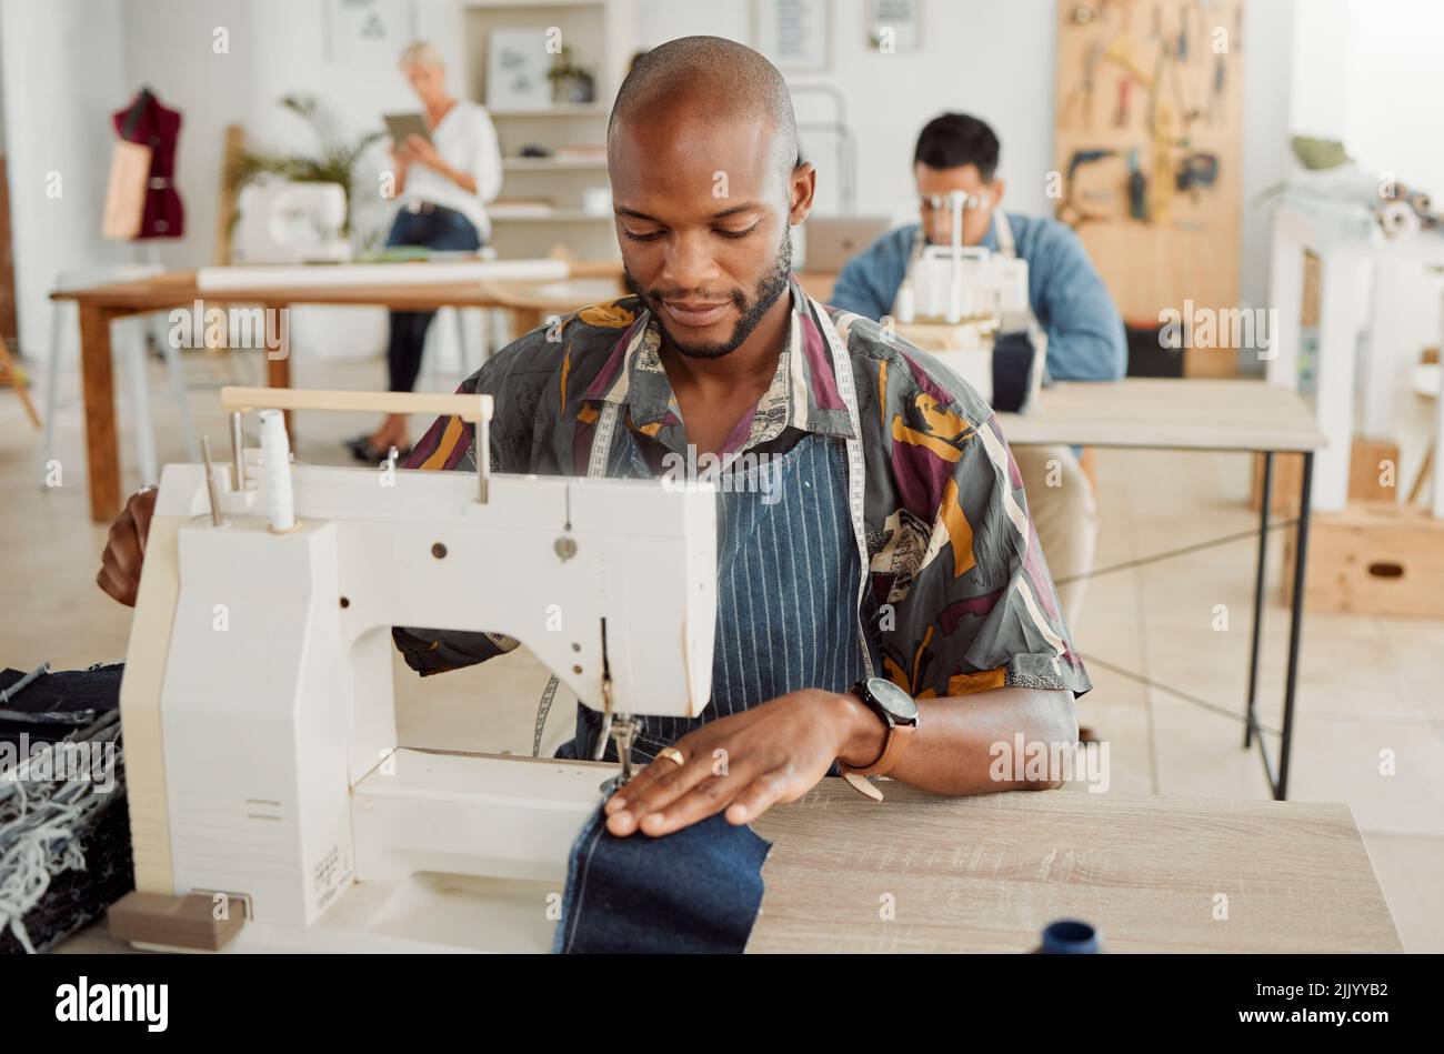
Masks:
[[[754,824],[748,951],[1031,951],[1069,917],[1105,951],[1402,951],[1347,806],[882,787],[825,780]]]

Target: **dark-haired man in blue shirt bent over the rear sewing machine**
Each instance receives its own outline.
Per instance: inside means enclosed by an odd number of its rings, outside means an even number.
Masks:
[[[871,319],[892,315],[923,244],[950,244],[949,195],[962,191],[976,202],[963,211],[963,244],[1017,254],[1028,264],[1028,302],[1048,335],[1048,375],[1060,381],[1121,378],[1128,349],[1113,297],[1071,230],[1050,218],[1004,214],[998,156],[998,136],[976,117],[943,114],[928,121],[913,154],[921,222],[890,231],[849,260],[832,303]],[[1015,446],[1014,458],[1058,599],[1076,631],[1082,576],[1093,566],[1097,541],[1092,488],[1067,446]]]

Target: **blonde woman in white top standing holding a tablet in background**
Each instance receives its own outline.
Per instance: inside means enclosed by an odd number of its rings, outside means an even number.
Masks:
[[[430,141],[409,136],[391,144],[396,196],[401,202],[386,244],[478,250],[491,234],[485,202],[501,189],[501,150],[485,108],[446,92],[446,64],[435,45],[417,40],[401,52],[401,72],[422,103]],[[386,362],[391,391],[410,391],[433,310],[393,310]],[[358,461],[380,462],[390,448],[410,446],[406,414],[388,414],[371,435],[347,443]]]

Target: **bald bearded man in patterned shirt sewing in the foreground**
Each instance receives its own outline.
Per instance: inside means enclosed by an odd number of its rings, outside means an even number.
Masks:
[[[1089,689],[1017,465],[976,391],[793,280],[817,175],[781,75],[731,40],[671,40],[627,77],[606,146],[632,295],[527,334],[461,391],[495,398],[492,471],[719,484],[712,699],[643,722],[650,764],[606,803],[608,829],[748,823],[827,774],[872,797],[884,772],[937,794],[1057,785],[996,764],[1018,735],[1076,744]],[[409,466],[477,456],[471,427],[440,419]],[[100,583],[123,602],[152,505],[131,498],[111,530]],[[516,647],[394,638],[423,674]],[[589,757],[599,725],[578,706],[559,757]]]

